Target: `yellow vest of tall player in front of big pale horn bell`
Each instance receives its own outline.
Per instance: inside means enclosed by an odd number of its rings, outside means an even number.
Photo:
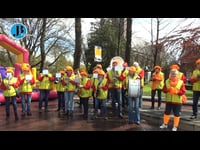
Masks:
[[[116,73],[118,74],[118,76],[121,75],[121,71],[116,71]],[[116,79],[114,83],[112,83],[114,81],[114,71],[111,69],[107,72],[108,74],[108,78],[110,80],[110,83],[108,85],[108,88],[109,89],[112,89],[112,88],[122,88],[122,81]]]

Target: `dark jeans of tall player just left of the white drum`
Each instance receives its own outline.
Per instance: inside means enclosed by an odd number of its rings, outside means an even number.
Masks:
[[[112,89],[111,98],[112,98],[112,112],[116,114],[116,104],[118,103],[118,115],[122,114],[122,90],[121,89]]]

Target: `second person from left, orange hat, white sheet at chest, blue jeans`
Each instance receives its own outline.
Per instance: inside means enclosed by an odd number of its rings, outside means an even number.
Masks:
[[[31,116],[31,99],[32,99],[32,85],[35,83],[33,75],[31,74],[30,65],[23,63],[21,65],[22,74],[18,77],[20,95],[22,98],[22,116],[26,113]],[[27,101],[27,106],[26,106]]]

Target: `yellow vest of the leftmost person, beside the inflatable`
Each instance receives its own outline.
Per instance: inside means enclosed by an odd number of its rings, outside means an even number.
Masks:
[[[8,79],[7,78],[5,78],[4,80],[3,80],[3,83],[4,83],[4,85],[5,86],[8,86],[8,83],[16,83],[17,82],[17,78],[16,77],[12,77],[11,79],[10,79],[10,81],[8,81]],[[10,86],[9,87],[10,89],[8,90],[8,89],[6,89],[6,90],[4,90],[3,91],[3,95],[5,96],[5,97],[11,97],[11,96],[16,96],[16,91],[15,91],[15,88],[13,87],[13,86]]]

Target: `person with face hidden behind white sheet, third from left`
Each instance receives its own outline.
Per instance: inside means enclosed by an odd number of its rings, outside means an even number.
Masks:
[[[42,113],[42,102],[45,99],[45,112],[48,112],[48,98],[51,90],[51,83],[54,81],[54,77],[47,69],[44,69],[42,73],[38,75],[40,81],[40,99],[39,99],[39,113]]]

